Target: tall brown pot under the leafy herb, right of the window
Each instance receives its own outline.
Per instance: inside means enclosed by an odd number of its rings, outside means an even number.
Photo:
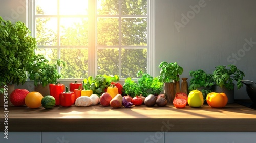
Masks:
[[[164,94],[166,94],[167,103],[173,103],[175,96],[175,83],[164,83]]]

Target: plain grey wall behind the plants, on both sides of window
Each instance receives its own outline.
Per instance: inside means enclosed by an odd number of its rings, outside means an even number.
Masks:
[[[26,22],[25,0],[0,3],[5,20]],[[177,62],[184,68],[181,77],[189,79],[190,70],[211,73],[215,66],[235,64],[244,71],[244,79],[256,81],[255,5],[253,0],[156,0],[156,76],[162,61]],[[31,91],[33,83],[17,87]],[[235,96],[248,99],[245,87],[236,90]]]

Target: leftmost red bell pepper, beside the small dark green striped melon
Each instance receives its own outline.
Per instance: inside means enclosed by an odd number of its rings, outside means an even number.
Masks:
[[[59,105],[59,95],[64,91],[65,86],[64,84],[59,84],[59,82],[57,82],[56,84],[50,84],[49,85],[49,89],[50,89],[50,95],[53,96],[55,98],[55,105]]]

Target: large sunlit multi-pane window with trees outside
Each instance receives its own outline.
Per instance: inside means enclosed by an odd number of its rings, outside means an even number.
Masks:
[[[98,74],[136,78],[154,74],[150,4],[153,0],[33,0],[37,54],[66,62],[66,79]],[[151,26],[151,27],[150,27]],[[154,75],[153,75],[154,76]]]

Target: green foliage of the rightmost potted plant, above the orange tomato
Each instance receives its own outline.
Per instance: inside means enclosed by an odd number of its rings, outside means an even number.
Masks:
[[[229,67],[229,69],[227,67]],[[243,71],[237,69],[236,66],[219,65],[215,68],[216,69],[214,70],[212,76],[217,86],[221,88],[226,87],[228,90],[232,90],[234,88],[233,81],[237,81],[237,89],[240,89],[243,86],[241,80],[243,80],[245,75]]]

